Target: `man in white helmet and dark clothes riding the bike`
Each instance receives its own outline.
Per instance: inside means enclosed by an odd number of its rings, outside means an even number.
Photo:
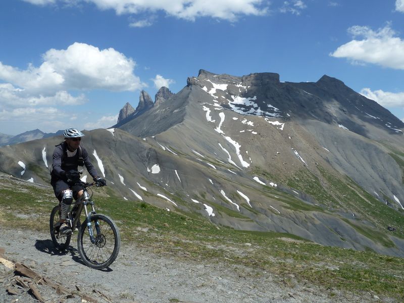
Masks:
[[[66,224],[66,215],[73,198],[77,199],[83,194],[83,187],[77,183],[80,179],[78,166],[85,166],[93,180],[100,186],[107,185],[107,182],[98,176],[87,150],[80,146],[84,134],[75,128],[68,128],[63,132],[63,136],[65,140],[56,145],[54,150],[51,184],[60,202],[60,220],[57,223],[60,225],[59,232],[68,235],[72,230]]]

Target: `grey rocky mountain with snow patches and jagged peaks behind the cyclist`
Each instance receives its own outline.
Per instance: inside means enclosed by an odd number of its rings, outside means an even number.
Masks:
[[[139,100],[114,127],[85,131],[110,195],[404,257],[404,123],[342,81],[200,70]],[[3,146],[0,171],[48,184],[58,141]]]

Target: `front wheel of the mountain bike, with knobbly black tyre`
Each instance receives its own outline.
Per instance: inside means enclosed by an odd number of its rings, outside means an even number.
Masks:
[[[103,269],[110,266],[117,258],[121,247],[121,236],[118,227],[108,216],[92,215],[90,223],[89,227],[86,221],[81,224],[77,236],[77,248],[81,260],[87,266]],[[93,235],[93,241],[90,233]]]

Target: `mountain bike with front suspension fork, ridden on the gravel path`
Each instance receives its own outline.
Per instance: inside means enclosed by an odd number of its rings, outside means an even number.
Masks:
[[[80,171],[81,173],[82,171]],[[94,269],[103,269],[110,266],[118,256],[121,246],[121,236],[114,221],[102,214],[97,214],[92,198],[92,189],[100,185],[96,182],[86,183],[78,181],[83,186],[83,194],[73,205],[66,216],[66,223],[71,228],[72,233],[64,235],[59,233],[60,209],[54,207],[49,220],[51,238],[58,250],[65,250],[70,243],[72,234],[77,234],[77,249],[81,260],[85,265]],[[87,207],[91,208],[88,212]],[[84,209],[85,220],[80,224],[80,216]]]

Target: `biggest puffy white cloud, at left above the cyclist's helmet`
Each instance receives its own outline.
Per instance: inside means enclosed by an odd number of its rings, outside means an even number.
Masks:
[[[133,74],[135,62],[114,48],[98,49],[75,42],[67,49],[49,49],[39,67],[26,70],[0,62],[0,79],[27,92],[43,95],[69,89],[133,91],[144,86]]]

